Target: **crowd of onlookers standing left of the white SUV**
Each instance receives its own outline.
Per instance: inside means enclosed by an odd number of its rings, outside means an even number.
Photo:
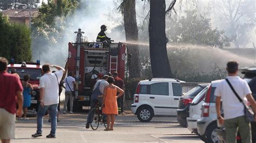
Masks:
[[[0,57],[0,139],[3,143],[10,142],[10,139],[15,138],[15,120],[16,115],[18,119],[27,118],[28,107],[31,105],[31,92],[33,91],[32,85],[29,83],[30,75],[26,74],[21,81],[19,75],[15,69],[8,73],[8,60],[4,57]],[[57,69],[58,71],[50,71],[50,67]],[[50,134],[46,135],[46,138],[56,138],[56,128],[58,114],[60,113],[60,93],[63,87],[65,87],[65,102],[64,111],[70,101],[70,114],[72,114],[72,104],[74,98],[76,98],[75,90],[75,78],[73,78],[73,72],[68,73],[68,77],[62,81],[62,77],[65,73],[63,67],[57,65],[44,64],[42,66],[43,76],[39,79],[39,101],[40,105],[37,112],[37,130],[32,137],[42,136],[43,117],[48,111],[49,122],[51,122]],[[106,116],[107,128],[105,131],[112,131],[115,115],[120,114],[123,111],[121,100],[124,94],[124,83],[120,79],[117,72],[106,74],[102,77],[97,77],[95,86],[92,89],[91,96],[91,108],[95,106],[95,100],[103,107],[103,113]],[[63,86],[65,83],[66,86]],[[18,105],[16,109],[16,105]],[[120,110],[119,110],[120,108]],[[22,113],[23,110],[23,113]],[[92,122],[92,111],[89,111],[87,118],[87,125]]]

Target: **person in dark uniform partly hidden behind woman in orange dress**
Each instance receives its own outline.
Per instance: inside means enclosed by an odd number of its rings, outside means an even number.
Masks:
[[[118,86],[123,90],[124,82],[121,78],[118,77],[118,73],[114,72],[113,77],[114,77],[114,85]],[[124,95],[117,99],[117,105],[118,105],[118,114],[123,113],[124,112]]]

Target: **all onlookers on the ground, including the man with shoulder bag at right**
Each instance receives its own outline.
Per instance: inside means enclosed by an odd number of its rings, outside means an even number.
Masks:
[[[26,74],[23,81],[19,79],[15,70],[11,73],[7,72],[8,60],[0,57],[0,138],[3,143],[10,142],[15,138],[15,119],[16,115],[20,119],[28,120],[26,114],[31,101],[31,91],[33,87],[29,84],[30,76]],[[50,67],[58,71],[50,71]],[[37,130],[32,137],[42,136],[43,116],[46,111],[49,112],[51,131],[46,138],[56,138],[56,128],[58,121],[58,113],[60,112],[60,93],[62,92],[63,83],[61,82],[65,69],[57,65],[44,64],[42,66],[43,76],[39,79],[40,105],[37,112]],[[238,77],[238,63],[231,61],[227,63],[228,76],[226,80],[221,81],[215,90],[216,109],[218,121],[225,125],[227,142],[235,142],[235,135],[240,131],[242,142],[251,142],[250,122],[246,120],[245,105],[243,101],[248,100],[253,111],[256,111],[256,103],[252,97],[250,87],[245,80]],[[97,79],[96,79],[97,78]],[[124,83],[118,77],[118,73],[114,72],[113,76],[108,73],[104,76],[95,77],[97,80],[92,88],[91,109],[95,107],[97,100],[103,107],[103,114],[107,122],[104,131],[113,131],[115,115],[122,113],[123,110],[123,94]],[[65,82],[65,104],[64,111],[70,100],[70,113],[72,114],[72,101],[76,97],[74,93],[76,89],[75,78],[73,72],[69,72]],[[232,90],[233,91],[232,91]],[[237,96],[237,98],[235,97]],[[242,99],[239,101],[238,99]],[[221,114],[220,103],[222,101],[225,117]],[[16,109],[16,105],[18,108]],[[23,118],[22,118],[23,110]],[[89,128],[92,122],[94,110],[90,110],[87,116],[86,128]],[[256,116],[254,115],[256,120]]]

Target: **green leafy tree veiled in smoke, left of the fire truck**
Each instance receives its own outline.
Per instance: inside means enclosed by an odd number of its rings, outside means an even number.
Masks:
[[[39,8],[39,15],[32,20],[32,49],[33,56],[37,57],[39,53],[59,51],[56,49],[64,37],[63,31],[69,27],[66,23],[66,17],[72,15],[78,6],[78,2],[62,0],[54,4],[49,1],[43,3]]]

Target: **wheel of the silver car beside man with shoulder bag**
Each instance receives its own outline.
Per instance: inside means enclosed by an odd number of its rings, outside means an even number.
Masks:
[[[206,136],[207,143],[219,143],[216,123],[212,124],[210,127],[207,127],[205,136]]]

